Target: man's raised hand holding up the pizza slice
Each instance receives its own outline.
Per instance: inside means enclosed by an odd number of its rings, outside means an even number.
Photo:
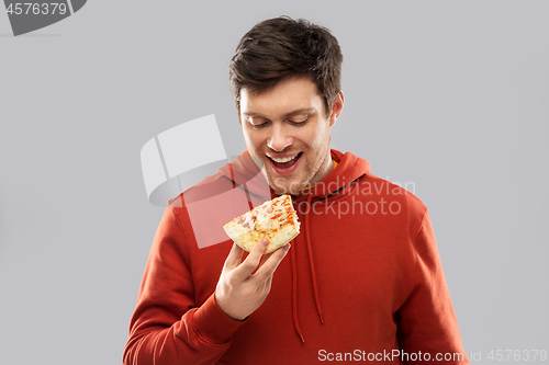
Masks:
[[[271,289],[272,274],[290,249],[288,243],[264,256],[268,244],[268,239],[259,240],[244,262],[244,250],[233,244],[215,289],[217,305],[228,317],[244,320],[267,298]]]

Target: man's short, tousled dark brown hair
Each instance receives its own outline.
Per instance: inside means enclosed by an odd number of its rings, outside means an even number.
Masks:
[[[260,93],[280,80],[310,77],[329,116],[340,90],[343,55],[326,27],[279,16],[256,24],[238,43],[228,67],[231,92],[240,117],[240,90]]]

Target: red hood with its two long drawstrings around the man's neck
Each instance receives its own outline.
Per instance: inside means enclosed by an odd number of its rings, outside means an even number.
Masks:
[[[346,152],[343,153],[338,150],[330,150],[332,160],[337,162],[337,166],[334,170],[320,183],[314,186],[311,186],[302,192],[302,194],[298,196],[292,196],[292,202],[294,207],[298,205],[306,204],[307,207],[305,210],[296,208],[298,215],[300,212],[306,212],[301,214],[300,220],[304,220],[304,225],[302,230],[298,237],[292,240],[291,243],[295,243],[299,246],[306,246],[306,254],[309,261],[309,271],[313,284],[313,294],[316,311],[318,315],[318,319],[321,323],[324,324],[324,318],[322,312],[321,298],[318,296],[318,283],[316,280],[316,270],[314,265],[314,242],[311,240],[311,206],[313,202],[321,199],[338,199],[347,194],[352,189],[352,182],[357,181],[360,176],[370,172],[370,163],[367,160],[358,158],[357,156]],[[261,173],[260,168],[255,162],[256,160],[249,156],[248,151],[245,151],[240,156],[238,156],[232,163],[227,163],[221,169],[217,170],[219,173],[223,174],[227,178],[232,184],[233,189],[242,187],[246,192],[246,196],[248,198],[249,208],[254,208],[254,204],[251,203],[251,195],[261,199],[261,202],[269,201],[276,196],[277,193],[269,186],[264,174]],[[260,161],[259,161],[260,163]],[[257,205],[256,205],[257,206]],[[314,214],[313,214],[314,215]],[[305,342],[303,332],[300,327],[298,304],[299,304],[299,293],[298,293],[298,259],[295,249],[290,250],[290,262],[292,270],[292,318],[293,326],[296,334],[301,339],[302,342]],[[303,261],[301,261],[303,262]],[[302,269],[306,271],[305,269]],[[303,272],[300,271],[300,275]]]

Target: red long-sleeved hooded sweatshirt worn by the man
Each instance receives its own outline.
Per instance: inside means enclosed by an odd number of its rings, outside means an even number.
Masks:
[[[224,223],[249,207],[221,197],[238,191],[257,206],[273,192],[266,196],[250,181],[253,168],[240,156],[171,199],[145,269],[124,364],[469,364],[427,208],[371,174],[368,161],[337,150],[332,158],[337,167],[293,199],[301,233],[267,299],[245,321],[215,301],[233,244],[226,236],[215,240]],[[208,206],[211,197],[217,201]],[[188,207],[195,203],[208,219],[191,223]]]

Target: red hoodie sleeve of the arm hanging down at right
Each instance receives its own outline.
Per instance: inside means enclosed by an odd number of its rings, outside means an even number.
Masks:
[[[396,316],[401,350],[407,354],[421,352],[422,360],[430,355],[437,364],[469,364],[427,210],[415,240],[415,252],[414,286]],[[403,360],[406,364],[415,363],[412,358]]]

